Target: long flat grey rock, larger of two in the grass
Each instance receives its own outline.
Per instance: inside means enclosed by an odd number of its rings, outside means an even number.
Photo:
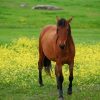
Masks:
[[[52,6],[52,5],[36,5],[33,6],[32,9],[39,9],[39,10],[62,10],[60,7]]]

